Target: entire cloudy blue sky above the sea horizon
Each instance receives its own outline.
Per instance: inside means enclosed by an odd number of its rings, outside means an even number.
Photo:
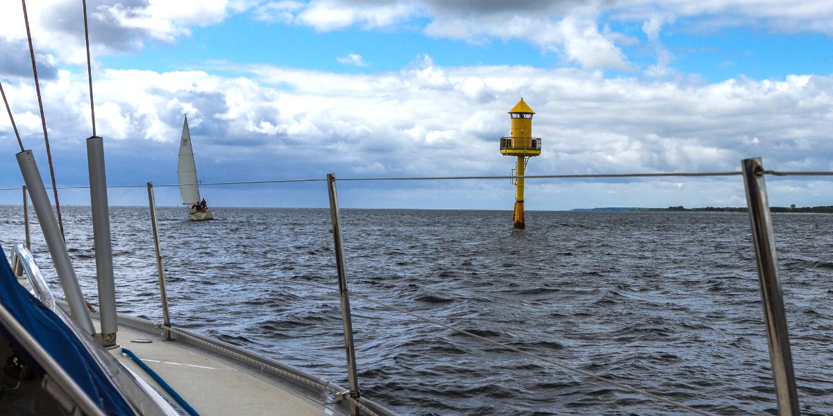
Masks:
[[[0,82],[49,184],[19,2]],[[87,186],[80,0],[28,0],[59,187]],[[181,203],[187,113],[200,181],[508,176],[507,111],[536,111],[526,174],[833,171],[833,2],[89,0],[112,205]],[[0,114],[0,204],[20,204]],[[833,205],[825,176],[766,177],[771,205]],[[511,210],[508,179],[340,181],[344,208]],[[323,182],[204,186],[210,206],[326,207]],[[63,189],[62,205],[88,205]],[[740,176],[528,179],[526,210],[746,206]]]

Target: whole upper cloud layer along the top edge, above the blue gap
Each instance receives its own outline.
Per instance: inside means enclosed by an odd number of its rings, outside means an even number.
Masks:
[[[81,9],[70,0],[30,0],[36,47],[52,52],[57,62],[82,63]],[[652,2],[628,0],[566,0],[560,2],[443,2],[439,0],[99,0],[90,2],[94,56],[137,51],[147,41],[177,42],[192,27],[222,22],[232,14],[251,12],[262,21],[312,27],[332,32],[421,28],[427,35],[482,43],[520,40],[554,52],[565,62],[586,69],[633,69],[621,47],[636,42],[611,31],[610,23],[641,22],[651,42],[662,27],[688,20],[682,30],[714,30],[727,25],[755,24],[781,32],[807,30],[833,34],[833,7],[814,0],[755,2]],[[12,7],[0,16],[0,37],[24,36],[20,12]],[[77,18],[72,18],[77,16]],[[661,50],[660,50],[661,51]],[[657,64],[661,66],[661,64]],[[656,68],[653,69],[656,71]]]

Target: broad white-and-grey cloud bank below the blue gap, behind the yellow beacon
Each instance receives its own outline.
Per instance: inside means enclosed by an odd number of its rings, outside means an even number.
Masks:
[[[833,77],[685,85],[568,69],[440,67],[429,57],[377,74],[244,69],[249,78],[105,72],[96,87],[99,134],[111,154],[129,155],[132,163],[147,158],[155,166],[138,170],[130,181],[175,181],[183,112],[192,121],[202,163],[210,166],[209,179],[216,181],[326,171],[505,175],[512,163],[500,156],[497,143],[508,133],[506,111],[521,95],[536,111],[533,134],[543,137],[531,175],[737,171],[749,156],[762,156],[776,170],[833,167],[826,146],[833,131]],[[31,87],[11,88],[29,97],[17,99],[13,109],[25,140],[35,140],[39,121],[27,116],[37,114]],[[60,72],[46,83],[44,97],[50,129],[64,138],[56,139],[58,151],[82,151],[89,120],[84,77]],[[10,134],[7,121],[0,122],[2,140],[11,141]],[[165,148],[170,157],[153,162],[135,151],[148,146]],[[706,188],[701,197],[711,198]],[[733,195],[726,191],[725,201]]]

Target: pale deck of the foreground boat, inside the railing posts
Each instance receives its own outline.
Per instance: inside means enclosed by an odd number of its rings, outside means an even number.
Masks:
[[[87,353],[92,354],[89,357],[90,363],[94,360],[105,372],[99,374],[98,377],[121,383],[124,390],[119,394],[127,394],[125,397],[131,396],[134,399],[131,401],[132,405],[139,406],[135,410],[140,413],[143,410],[157,409],[170,416],[176,414],[185,416],[188,414],[346,416],[352,414],[352,410],[362,409],[362,414],[371,416],[396,416],[390,410],[365,398],[350,398],[349,391],[326,379],[221,340],[179,329],[174,325],[164,326],[147,319],[119,314],[117,315],[118,344],[111,349],[101,349],[100,344],[87,338],[88,335],[84,329],[73,322],[67,312],[67,303],[53,299],[51,291],[43,285],[42,275],[37,270],[37,265],[34,265],[31,260],[31,255],[22,248],[22,245],[16,245],[18,246],[19,250],[24,253],[25,264],[29,265],[27,270],[31,269],[27,273],[34,277],[31,281],[30,278],[24,277],[22,270],[24,263],[15,260],[21,269],[17,275],[17,283],[30,293],[40,294],[47,300],[47,305],[40,306],[55,312],[58,319],[62,320],[62,324],[68,325],[67,334],[81,341],[81,344],[75,347],[86,349]],[[99,314],[93,312],[91,318],[95,327],[91,330],[101,333]],[[121,365],[111,362],[107,354],[110,354],[112,359]],[[91,371],[92,369],[93,367],[90,367]],[[125,374],[126,371],[136,374],[136,379],[128,377]],[[22,376],[20,379],[23,380]],[[147,384],[147,386],[136,385],[137,382]],[[28,385],[27,383],[26,386]],[[74,383],[67,385],[76,386]],[[37,388],[37,385],[35,387]],[[152,389],[159,394],[153,394]],[[135,392],[141,393],[137,395]],[[78,394],[79,397],[85,394],[89,396],[82,390],[79,390]],[[12,406],[22,404],[27,407],[32,407],[32,405],[37,407],[39,405],[33,402],[31,397],[23,399],[10,401],[10,403]],[[167,400],[172,406],[161,404],[162,399]],[[75,404],[76,407],[69,408],[67,403]],[[58,405],[67,409],[80,409],[76,402],[62,401]],[[94,410],[98,410],[97,406],[99,406],[96,403],[86,404],[86,402],[82,405],[88,406],[93,414],[96,414]]]

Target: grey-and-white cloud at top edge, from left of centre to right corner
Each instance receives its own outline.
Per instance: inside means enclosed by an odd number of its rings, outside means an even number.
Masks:
[[[262,19],[313,27],[320,32],[347,27],[376,29],[405,24],[424,24],[431,37],[484,43],[517,39],[530,42],[542,52],[556,52],[568,62],[587,69],[632,69],[621,52],[622,43],[634,42],[611,32],[608,22],[642,22],[651,42],[661,28],[677,17],[696,17],[687,31],[715,30],[738,24],[758,24],[772,30],[801,32],[808,28],[833,33],[829,2],[701,2],[681,0],[657,3],[647,0],[626,2],[441,2],[345,1],[267,2],[257,8]],[[422,23],[426,22],[426,23]],[[662,50],[661,50],[662,52]],[[663,52],[667,53],[667,52]],[[658,64],[661,67],[661,64]],[[656,72],[656,68],[653,69]]]

